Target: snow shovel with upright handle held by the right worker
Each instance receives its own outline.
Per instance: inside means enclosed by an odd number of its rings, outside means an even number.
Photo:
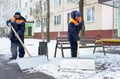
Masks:
[[[80,41],[77,41],[77,58],[64,58],[59,65],[61,74],[68,73],[89,73],[95,74],[95,60],[93,58],[80,58]]]

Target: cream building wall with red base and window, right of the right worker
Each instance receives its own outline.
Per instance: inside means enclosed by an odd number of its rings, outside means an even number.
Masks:
[[[113,9],[102,5],[99,0],[86,0],[84,5],[86,36],[111,38],[113,29]],[[114,27],[116,29],[116,27]]]

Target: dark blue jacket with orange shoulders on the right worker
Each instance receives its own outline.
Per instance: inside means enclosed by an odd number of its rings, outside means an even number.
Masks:
[[[76,21],[74,18],[70,18],[68,24],[68,40],[69,41],[80,40],[79,32],[81,29],[82,29],[82,18],[80,17],[79,21]]]

